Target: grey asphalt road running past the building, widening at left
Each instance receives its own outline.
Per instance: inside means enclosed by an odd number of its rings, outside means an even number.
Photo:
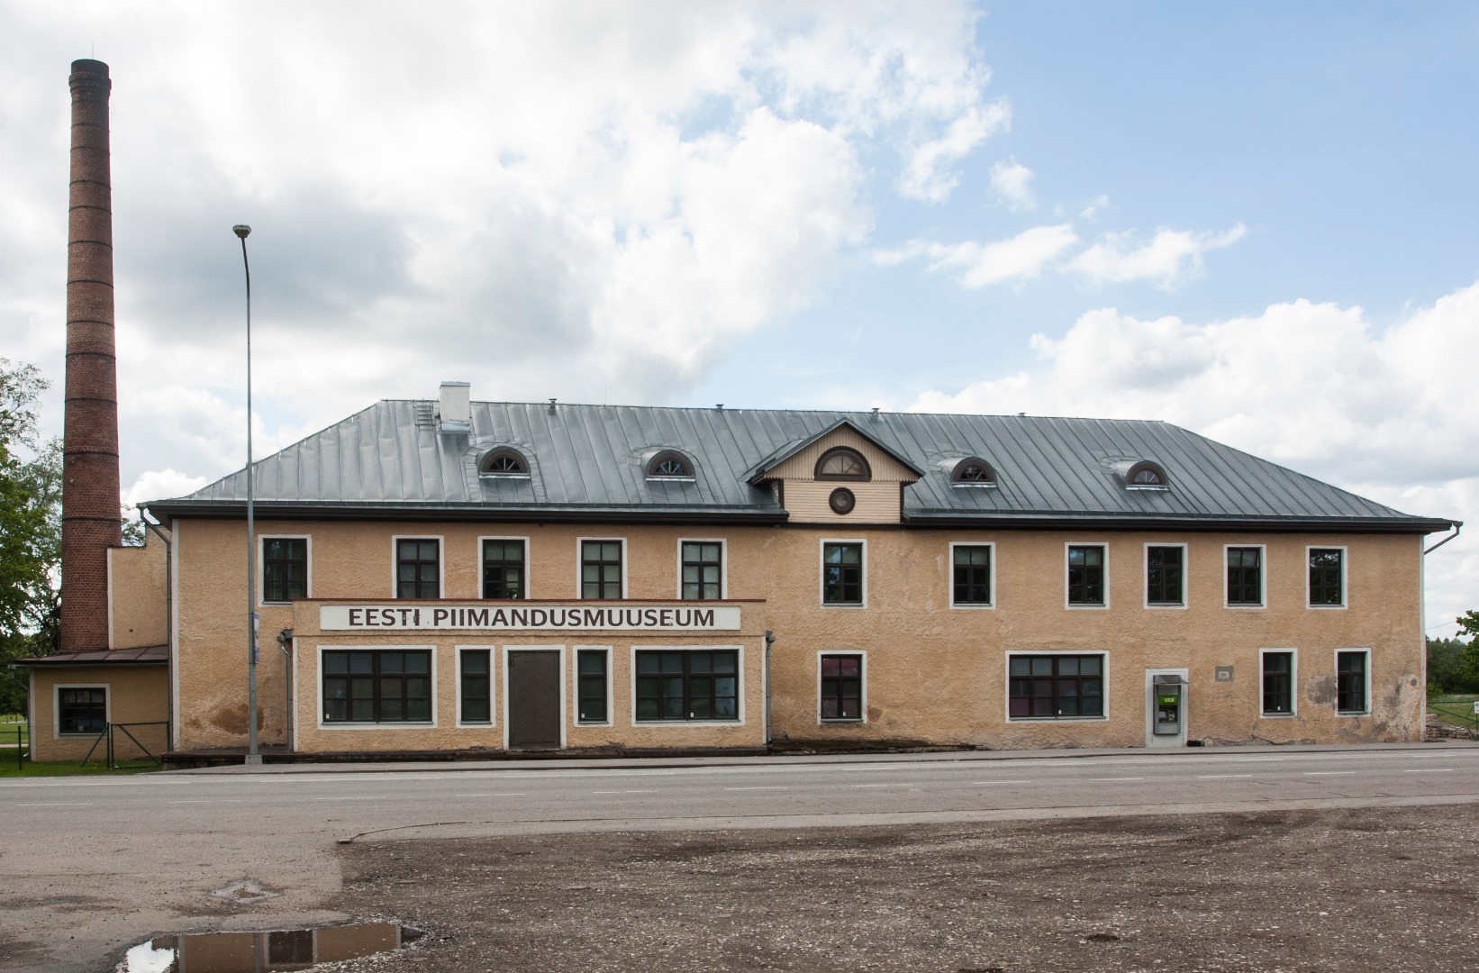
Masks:
[[[0,800],[0,969],[64,970],[151,933],[339,920],[345,840],[1470,803],[1479,747],[234,769]],[[277,895],[250,914],[210,895],[238,880]]]

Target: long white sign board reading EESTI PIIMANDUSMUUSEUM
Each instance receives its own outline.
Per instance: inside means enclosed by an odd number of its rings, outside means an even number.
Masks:
[[[737,631],[740,608],[716,605],[319,605],[324,631]]]

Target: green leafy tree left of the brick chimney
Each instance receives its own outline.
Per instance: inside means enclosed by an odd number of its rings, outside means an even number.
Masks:
[[[33,365],[0,358],[0,665],[56,646],[62,452],[35,438],[47,386]],[[24,704],[15,680],[0,679],[0,711]]]

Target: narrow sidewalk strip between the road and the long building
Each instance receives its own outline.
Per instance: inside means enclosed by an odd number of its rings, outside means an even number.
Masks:
[[[355,763],[268,763],[259,766],[195,767],[164,770],[164,773],[209,775],[275,775],[275,773],[426,773],[427,770],[651,770],[676,767],[725,767],[765,764],[837,764],[837,763],[941,763],[994,760],[1075,760],[1086,757],[1177,757],[1195,759],[1232,754],[1294,754],[1294,753],[1373,753],[1411,750],[1479,750],[1476,741],[1438,741],[1423,744],[1318,744],[1318,745],[1253,745],[1253,747],[1188,747],[1149,750],[1146,747],[1099,747],[1081,750],[958,750],[930,753],[877,754],[772,754],[757,757],[593,757],[593,759],[521,759],[521,760],[426,760],[426,762],[355,762]]]

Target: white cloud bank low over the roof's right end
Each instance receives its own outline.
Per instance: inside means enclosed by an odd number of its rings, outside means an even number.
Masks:
[[[1359,308],[1272,305],[1192,324],[1093,311],[1035,336],[1041,367],[911,408],[1162,418],[1409,513],[1479,519],[1479,284],[1377,328]],[[1432,620],[1479,608],[1479,540],[1427,562]]]

